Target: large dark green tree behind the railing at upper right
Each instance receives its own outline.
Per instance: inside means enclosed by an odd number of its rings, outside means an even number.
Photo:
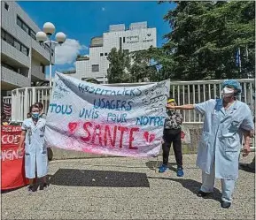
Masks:
[[[165,20],[161,74],[172,80],[244,78],[255,73],[254,2],[175,2]],[[241,68],[237,66],[241,51]]]

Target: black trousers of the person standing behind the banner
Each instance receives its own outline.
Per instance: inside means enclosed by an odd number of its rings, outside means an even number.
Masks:
[[[163,148],[163,164],[168,164],[171,144],[175,151],[175,160],[178,167],[182,167],[182,130],[181,129],[165,129]]]

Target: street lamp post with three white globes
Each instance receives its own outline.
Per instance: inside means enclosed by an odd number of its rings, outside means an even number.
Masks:
[[[43,25],[43,31],[40,31],[40,32],[37,32],[35,37],[36,37],[36,40],[37,42],[41,42],[41,43],[49,43],[49,46],[50,46],[50,71],[49,71],[49,77],[50,77],[50,87],[52,86],[52,66],[51,66],[51,47],[52,47],[52,44],[55,44],[55,45],[61,45],[62,43],[64,43],[66,41],[66,34],[62,33],[62,32],[58,32],[56,35],[55,35],[55,39],[56,39],[56,42],[52,41],[50,39],[51,35],[54,34],[55,32],[55,26],[50,23],[50,22],[46,22],[44,25]],[[54,47],[55,49],[55,47]],[[54,51],[54,54],[55,54],[55,51]]]

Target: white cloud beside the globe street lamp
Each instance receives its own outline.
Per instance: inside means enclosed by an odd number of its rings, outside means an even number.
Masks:
[[[55,64],[73,64],[76,56],[80,54],[81,50],[85,49],[88,49],[88,47],[68,38],[61,46],[56,46]]]

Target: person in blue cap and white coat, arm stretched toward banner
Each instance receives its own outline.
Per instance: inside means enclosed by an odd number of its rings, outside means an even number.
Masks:
[[[237,80],[222,83],[222,98],[198,104],[170,106],[168,109],[196,110],[205,116],[203,133],[198,145],[197,165],[202,170],[202,186],[198,196],[213,193],[214,178],[221,178],[221,207],[229,209],[235,181],[238,178],[239,154],[244,134],[243,156],[250,152],[253,130],[252,112],[237,100],[242,87]]]

